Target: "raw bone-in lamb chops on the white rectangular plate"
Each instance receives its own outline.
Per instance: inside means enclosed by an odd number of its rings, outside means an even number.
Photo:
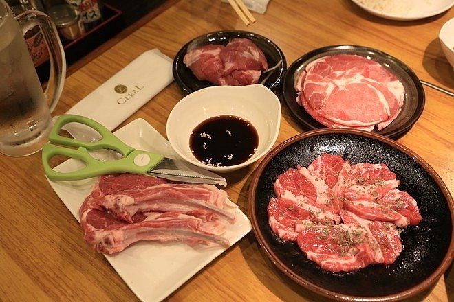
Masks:
[[[166,200],[172,194],[182,200]],[[118,253],[141,240],[228,247],[230,243],[221,235],[226,229],[224,222],[235,222],[235,215],[222,209],[226,205],[233,203],[215,186],[116,174],[100,177],[79,216],[85,240],[99,253]]]

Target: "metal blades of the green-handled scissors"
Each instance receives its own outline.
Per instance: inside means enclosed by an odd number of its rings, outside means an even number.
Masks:
[[[226,178],[177,159],[164,158],[159,165],[154,167],[147,174],[166,178],[171,181],[208,183],[223,185],[224,187],[227,185]]]

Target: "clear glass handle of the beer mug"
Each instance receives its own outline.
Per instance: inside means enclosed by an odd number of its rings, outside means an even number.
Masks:
[[[65,50],[61,44],[54,21],[47,14],[39,10],[27,10],[16,16],[16,20],[21,25],[23,34],[36,25],[39,26],[50,58],[50,75],[44,91],[50,112],[54,111],[58,100],[60,100],[66,77],[66,57]]]

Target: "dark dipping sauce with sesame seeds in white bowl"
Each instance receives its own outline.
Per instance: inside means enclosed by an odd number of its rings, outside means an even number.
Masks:
[[[257,151],[259,135],[247,119],[235,115],[210,117],[191,132],[189,148],[206,165],[244,163]]]

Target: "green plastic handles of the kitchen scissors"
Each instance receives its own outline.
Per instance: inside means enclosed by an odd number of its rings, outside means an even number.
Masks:
[[[78,122],[90,126],[98,131],[102,138],[99,141],[87,142],[58,135],[61,128],[70,122]],[[53,143],[63,146],[57,146]],[[77,149],[65,148],[64,146],[72,146]],[[122,154],[123,157],[114,161],[100,161],[94,159],[88,152],[89,150],[94,151],[99,149],[115,150]],[[50,159],[57,155],[83,161],[85,167],[71,172],[58,172],[49,165]],[[50,133],[50,143],[47,143],[43,147],[42,154],[45,174],[52,181],[76,181],[109,173],[129,172],[133,174],[145,174],[163,159],[164,155],[162,154],[136,150],[128,146],[98,122],[79,115],[61,115],[58,117]]]

